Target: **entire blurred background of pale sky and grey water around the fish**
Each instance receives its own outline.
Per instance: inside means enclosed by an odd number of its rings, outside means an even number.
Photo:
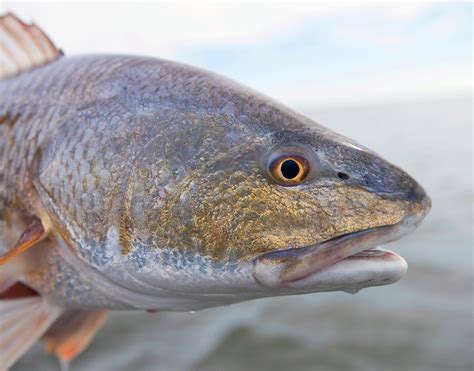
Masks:
[[[0,3],[67,55],[173,59],[234,78],[400,165],[432,212],[409,264],[353,296],[114,313],[73,370],[473,370],[472,4]],[[13,370],[56,370],[37,345]]]

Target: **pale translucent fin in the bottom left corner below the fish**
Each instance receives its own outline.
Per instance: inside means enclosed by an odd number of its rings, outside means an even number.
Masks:
[[[0,370],[7,370],[61,315],[40,296],[0,300]]]

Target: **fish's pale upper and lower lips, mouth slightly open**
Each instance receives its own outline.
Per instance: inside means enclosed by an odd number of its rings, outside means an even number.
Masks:
[[[330,285],[334,289],[339,285],[340,290],[357,291],[360,287],[390,284],[403,277],[407,263],[398,254],[375,246],[400,239],[418,224],[418,216],[410,215],[394,225],[265,253],[254,259],[253,276],[267,288]]]

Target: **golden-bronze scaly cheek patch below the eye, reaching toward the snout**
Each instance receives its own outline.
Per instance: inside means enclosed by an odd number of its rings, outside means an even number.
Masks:
[[[261,171],[190,175],[155,218],[157,245],[215,261],[312,245],[361,229],[395,224],[404,205],[331,183],[283,187]]]

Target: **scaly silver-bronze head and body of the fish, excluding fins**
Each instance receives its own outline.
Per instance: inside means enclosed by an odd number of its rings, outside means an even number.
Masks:
[[[95,331],[104,309],[397,281],[403,258],[372,248],[416,228],[430,201],[373,151],[219,75],[58,55],[0,80],[0,208],[0,256],[40,236],[0,280],[55,308],[38,337],[72,358],[57,323],[77,311]]]

